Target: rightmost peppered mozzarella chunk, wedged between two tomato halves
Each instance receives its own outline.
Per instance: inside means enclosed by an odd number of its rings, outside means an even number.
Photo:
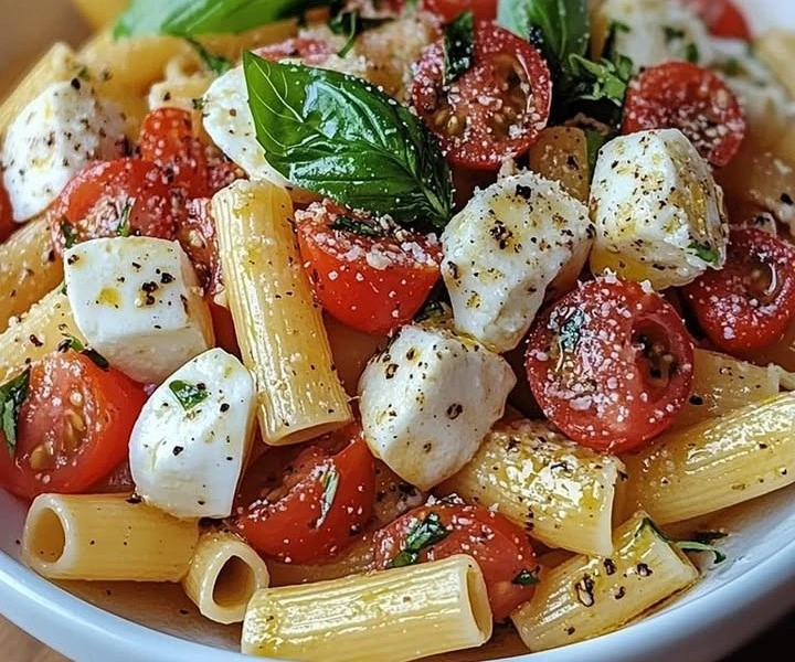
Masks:
[[[655,289],[691,282],[725,263],[723,193],[678,129],[621,136],[602,148],[591,188],[591,267]]]

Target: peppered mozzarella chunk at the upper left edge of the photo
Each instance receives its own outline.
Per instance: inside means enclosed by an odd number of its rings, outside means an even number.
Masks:
[[[88,162],[120,157],[125,122],[119,106],[80,78],[53,83],[28,104],[0,152],[14,221],[41,214]]]

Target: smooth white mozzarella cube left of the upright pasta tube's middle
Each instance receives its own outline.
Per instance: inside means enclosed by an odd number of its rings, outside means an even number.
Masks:
[[[64,265],[81,332],[134,380],[159,384],[213,346],[210,310],[177,242],[94,239],[70,248]]]

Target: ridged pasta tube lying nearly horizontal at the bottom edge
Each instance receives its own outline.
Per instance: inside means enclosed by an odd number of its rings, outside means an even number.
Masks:
[[[264,589],[248,606],[243,653],[326,662],[403,662],[474,648],[491,636],[491,610],[468,556]]]

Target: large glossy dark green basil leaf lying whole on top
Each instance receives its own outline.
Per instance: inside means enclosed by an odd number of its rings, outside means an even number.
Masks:
[[[243,66],[257,139],[287,181],[401,224],[447,224],[449,168],[407,108],[337,72],[253,53],[244,53]]]

